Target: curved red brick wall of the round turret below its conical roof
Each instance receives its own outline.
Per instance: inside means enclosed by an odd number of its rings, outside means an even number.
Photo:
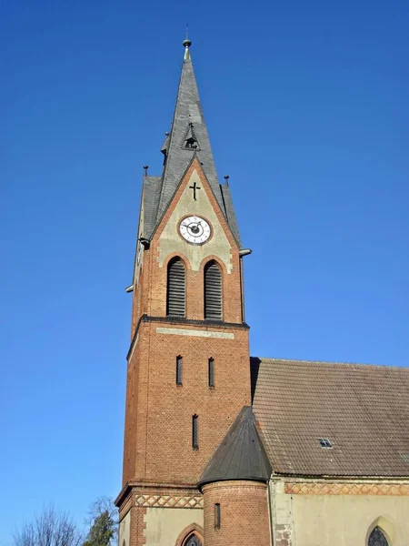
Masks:
[[[203,488],[205,546],[270,546],[267,487],[255,481],[219,481]],[[220,503],[221,526],[214,527]]]

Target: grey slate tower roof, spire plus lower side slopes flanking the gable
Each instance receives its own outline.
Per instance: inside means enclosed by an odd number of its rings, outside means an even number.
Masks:
[[[185,147],[185,140],[193,137],[197,147]],[[230,190],[220,185],[214,167],[214,158],[205,125],[202,105],[195,80],[190,54],[185,56],[177,93],[175,114],[169,135],[161,147],[165,155],[162,177],[144,177],[145,195],[145,238],[151,238],[179,186],[185,170],[196,155],[205,176],[212,187],[214,197],[232,229],[240,246],[240,235],[234,217]]]

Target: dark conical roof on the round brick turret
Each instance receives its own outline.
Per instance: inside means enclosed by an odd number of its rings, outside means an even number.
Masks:
[[[255,427],[253,410],[244,406],[215,450],[197,486],[224,480],[267,481],[271,466]]]

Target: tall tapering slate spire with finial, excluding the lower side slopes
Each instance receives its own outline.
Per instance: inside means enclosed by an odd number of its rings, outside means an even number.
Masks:
[[[224,210],[222,192],[214,167],[205,117],[197,90],[194,67],[190,56],[190,45],[192,45],[192,42],[186,38],[184,41],[185,56],[182,75],[162,175],[162,191],[157,210],[157,220],[164,214],[181,177],[185,173],[185,169],[189,166],[195,154],[202,163],[205,175],[214,190],[214,195],[222,210]]]

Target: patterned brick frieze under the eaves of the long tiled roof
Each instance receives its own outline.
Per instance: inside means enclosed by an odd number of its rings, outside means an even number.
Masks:
[[[291,495],[409,495],[409,483],[287,482],[285,493]]]

